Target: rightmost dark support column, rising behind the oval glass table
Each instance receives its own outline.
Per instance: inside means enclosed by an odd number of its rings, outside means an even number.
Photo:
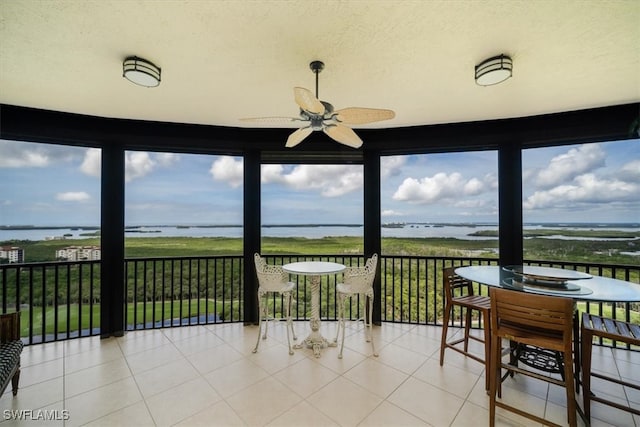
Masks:
[[[502,143],[498,149],[500,265],[522,264],[522,149]]]

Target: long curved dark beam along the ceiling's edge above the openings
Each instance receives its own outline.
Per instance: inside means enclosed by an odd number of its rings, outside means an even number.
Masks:
[[[518,141],[522,148],[630,138],[640,103],[524,118],[387,129],[358,129],[368,149],[381,155],[498,149]],[[262,151],[268,163],[362,162],[353,150],[314,132],[293,149],[284,148],[292,129],[247,129],[86,116],[0,105],[0,138],[100,147],[121,142],[127,150],[243,155]],[[637,137],[637,135],[636,135]],[[299,157],[298,157],[299,156]],[[325,160],[326,159],[326,160]]]

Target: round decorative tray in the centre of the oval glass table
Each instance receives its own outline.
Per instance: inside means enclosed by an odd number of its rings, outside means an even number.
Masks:
[[[507,279],[508,286],[524,288],[529,291],[549,292],[575,292],[576,294],[590,294],[592,291],[574,280],[590,279],[593,276],[574,270],[538,266],[507,266],[503,269],[513,274],[513,278]]]

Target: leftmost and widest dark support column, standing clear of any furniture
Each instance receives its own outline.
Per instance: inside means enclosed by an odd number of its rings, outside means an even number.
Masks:
[[[100,336],[124,335],[124,149],[117,143],[102,148],[100,208]]]

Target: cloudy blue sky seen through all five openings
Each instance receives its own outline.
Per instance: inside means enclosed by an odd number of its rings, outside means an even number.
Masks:
[[[640,140],[523,152],[524,222],[640,222]],[[383,157],[383,222],[497,223],[496,151]],[[242,158],[126,152],[125,223],[242,224]],[[263,165],[262,223],[362,224],[360,165]],[[100,224],[100,150],[0,140],[0,225]]]

